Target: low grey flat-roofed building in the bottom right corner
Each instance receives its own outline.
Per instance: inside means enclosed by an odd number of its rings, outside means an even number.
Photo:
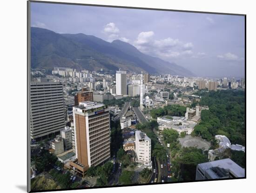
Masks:
[[[228,159],[198,164],[195,180],[243,178],[245,171],[234,161]]]

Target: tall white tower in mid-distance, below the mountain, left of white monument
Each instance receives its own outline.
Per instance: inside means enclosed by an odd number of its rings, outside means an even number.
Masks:
[[[116,82],[116,94],[126,95],[127,94],[126,71],[116,71],[115,82]]]

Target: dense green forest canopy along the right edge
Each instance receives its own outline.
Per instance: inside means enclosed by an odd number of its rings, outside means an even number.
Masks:
[[[192,134],[212,140],[217,134],[226,135],[232,144],[245,144],[245,93],[238,90],[198,92],[200,105],[209,106],[202,110],[202,121]]]

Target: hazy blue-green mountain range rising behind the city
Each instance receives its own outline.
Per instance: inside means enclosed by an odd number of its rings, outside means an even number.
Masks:
[[[189,70],[141,53],[121,40],[111,43],[83,33],[62,34],[31,27],[31,67],[72,67],[76,69],[128,70],[151,74],[193,76]]]

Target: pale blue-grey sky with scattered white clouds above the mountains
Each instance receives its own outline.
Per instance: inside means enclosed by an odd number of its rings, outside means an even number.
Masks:
[[[244,17],[31,3],[31,25],[122,40],[202,77],[243,77]]]

